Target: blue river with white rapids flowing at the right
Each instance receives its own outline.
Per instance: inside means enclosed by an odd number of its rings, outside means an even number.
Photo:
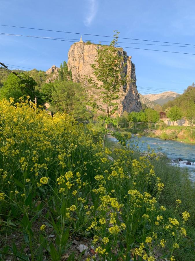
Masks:
[[[155,152],[161,151],[166,154],[168,158],[171,159],[172,164],[178,165],[182,168],[187,168],[190,172],[192,180],[195,181],[195,145],[187,144],[183,142],[177,142],[174,140],[163,140],[159,138],[152,138],[147,136],[133,135],[134,141],[136,144],[138,141],[138,146],[140,151],[146,151],[147,146],[149,145],[151,149],[154,149]],[[114,142],[117,142],[116,138],[110,138]],[[133,139],[131,139],[133,140]],[[191,165],[187,165],[187,164]]]

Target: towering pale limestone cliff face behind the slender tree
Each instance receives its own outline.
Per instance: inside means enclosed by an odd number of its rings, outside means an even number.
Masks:
[[[67,64],[68,69],[72,71],[73,81],[82,82],[88,86],[86,76],[96,80],[91,64],[95,63],[97,48],[97,45],[80,42],[74,43],[70,47]],[[140,111],[142,105],[136,86],[135,65],[131,62],[131,56],[127,56],[127,52],[122,48],[118,48],[118,51],[123,58],[122,63],[126,64],[124,74],[127,76],[127,84],[120,87],[118,99],[118,113],[121,115],[125,110],[127,112]],[[94,94],[92,90],[89,91],[90,94]]]

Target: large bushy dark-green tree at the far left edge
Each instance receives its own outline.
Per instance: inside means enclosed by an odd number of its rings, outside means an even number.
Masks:
[[[20,97],[30,96],[32,101],[35,97],[38,97],[39,104],[42,104],[41,95],[38,90],[35,90],[35,86],[37,86],[36,81],[23,73],[20,74],[20,77],[12,73],[8,76],[0,89],[0,99],[5,98],[9,100],[12,97],[14,102],[19,102]]]

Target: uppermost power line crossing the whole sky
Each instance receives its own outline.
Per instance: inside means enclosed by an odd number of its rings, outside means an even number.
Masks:
[[[67,33],[67,34],[90,35],[90,36],[100,36],[100,37],[116,38],[116,37],[108,36],[108,35],[93,35],[93,34],[86,34],[86,33],[80,33],[80,32],[79,33],[78,32],[67,32],[67,31],[49,30],[49,29],[42,29],[42,28],[31,28],[31,27],[23,27],[23,26],[10,26],[10,25],[4,25],[4,24],[0,24],[0,26],[24,28],[24,29],[32,29],[32,30],[42,30],[42,31],[49,31],[49,32],[62,32],[62,33]],[[165,43],[165,44],[182,44],[182,45],[192,45],[192,46],[195,46],[195,44],[183,44],[183,43],[173,43],[173,42],[165,42],[165,41],[146,40],[146,39],[134,39],[134,38],[127,38],[127,37],[117,37],[117,38],[118,39],[135,40],[135,41],[148,41],[148,42],[157,42],[157,43]]]

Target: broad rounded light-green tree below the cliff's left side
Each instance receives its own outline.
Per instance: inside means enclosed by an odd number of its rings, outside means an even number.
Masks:
[[[53,111],[66,112],[75,119],[90,117],[86,110],[87,93],[80,83],[72,81],[55,82],[51,94]]]

